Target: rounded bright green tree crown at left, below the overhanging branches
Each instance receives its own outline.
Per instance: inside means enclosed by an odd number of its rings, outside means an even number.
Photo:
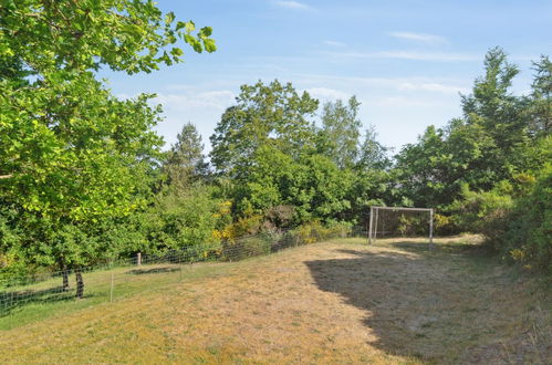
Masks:
[[[28,237],[29,257],[43,264],[90,264],[105,250],[85,248],[100,242],[81,233],[144,206],[160,145],[150,132],[158,112],[147,100],[118,101],[91,74],[19,92],[10,103],[0,100],[1,168],[11,175],[0,182],[1,196],[24,211],[18,225],[43,236]],[[64,240],[71,232],[81,238]]]

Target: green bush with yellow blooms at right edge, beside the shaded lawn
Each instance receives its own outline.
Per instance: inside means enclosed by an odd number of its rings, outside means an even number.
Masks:
[[[454,218],[466,231],[485,236],[504,259],[552,274],[552,165],[539,176],[525,179],[522,189],[507,182],[483,192],[465,188]]]

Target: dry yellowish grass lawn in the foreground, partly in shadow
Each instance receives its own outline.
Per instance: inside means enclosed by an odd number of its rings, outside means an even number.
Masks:
[[[80,301],[25,286],[45,294],[0,317],[0,361],[552,363],[550,290],[467,238],[136,270],[87,273]]]

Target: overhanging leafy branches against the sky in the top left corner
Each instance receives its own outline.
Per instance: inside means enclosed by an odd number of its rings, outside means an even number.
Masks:
[[[153,1],[4,0],[0,6],[0,54],[42,74],[98,70],[150,72],[183,61],[183,40],[196,52],[216,50],[211,29],[175,21]],[[6,59],[3,62],[6,62]]]

